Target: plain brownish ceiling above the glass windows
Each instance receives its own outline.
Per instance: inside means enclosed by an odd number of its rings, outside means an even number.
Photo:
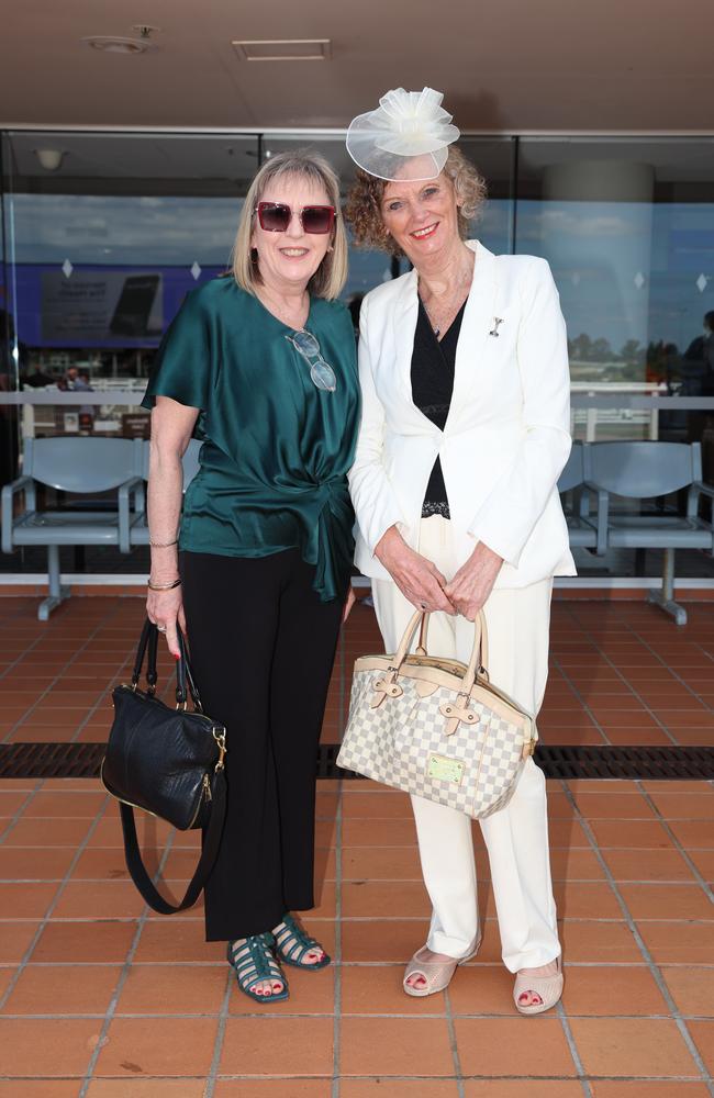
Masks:
[[[388,88],[445,92],[462,130],[714,132],[712,0],[5,0],[0,127],[343,127]],[[10,12],[12,9],[12,12]],[[161,27],[155,53],[85,35]],[[331,38],[248,63],[234,38]]]

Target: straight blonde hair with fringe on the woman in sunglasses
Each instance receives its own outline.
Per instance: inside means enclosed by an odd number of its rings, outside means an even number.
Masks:
[[[276,179],[285,177],[305,179],[327,192],[331,205],[335,208],[335,225],[333,228],[332,251],[327,251],[320,267],[310,279],[308,289],[316,298],[332,300],[339,293],[347,281],[347,234],[339,206],[339,180],[324,156],[311,153],[309,149],[295,149],[279,153],[259,168],[245,197],[238,231],[235,236],[232,253],[233,277],[242,290],[255,293],[256,285],[263,281],[255,249],[250,247],[250,237],[255,226],[256,206],[268,186]]]

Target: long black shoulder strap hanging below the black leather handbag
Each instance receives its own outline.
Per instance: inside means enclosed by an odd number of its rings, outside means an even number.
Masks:
[[[213,869],[213,864],[219,853],[223,824],[225,821],[226,785],[225,771],[223,766],[216,769],[214,773],[211,786],[211,816],[209,818],[208,827],[203,833],[203,849],[201,850],[201,856],[196,867],[196,872],[186,889],[183,899],[180,900],[179,904],[169,904],[167,899],[164,899],[158,888],[152,881],[152,877],[144,865],[142,852],[138,845],[134,809],[131,805],[124,804],[124,802],[119,803],[129,872],[131,873],[132,881],[148,906],[155,911],[158,911],[160,915],[175,915],[177,911],[185,911],[187,907],[192,907],[199,898],[201,889],[205,885],[209,874]]]

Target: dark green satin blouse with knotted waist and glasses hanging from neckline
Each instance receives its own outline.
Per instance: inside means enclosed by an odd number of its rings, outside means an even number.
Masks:
[[[267,557],[299,549],[326,602],[343,597],[354,551],[347,490],[359,426],[355,336],[345,305],[312,298],[305,324],[337,378],[316,389],[282,324],[233,278],[193,290],[168,328],[144,407],[200,408],[200,469],[179,549]]]

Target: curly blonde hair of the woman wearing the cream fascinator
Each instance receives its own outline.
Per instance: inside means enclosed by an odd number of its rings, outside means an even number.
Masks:
[[[449,146],[442,175],[449,180],[459,200],[458,227],[459,235],[465,240],[469,223],[480,215],[486,202],[486,179],[454,145]],[[378,179],[361,168],[358,169],[356,181],[347,195],[345,220],[358,248],[379,248],[392,256],[401,256],[402,249],[384,228],[382,219],[382,198],[387,182],[386,179]]]

